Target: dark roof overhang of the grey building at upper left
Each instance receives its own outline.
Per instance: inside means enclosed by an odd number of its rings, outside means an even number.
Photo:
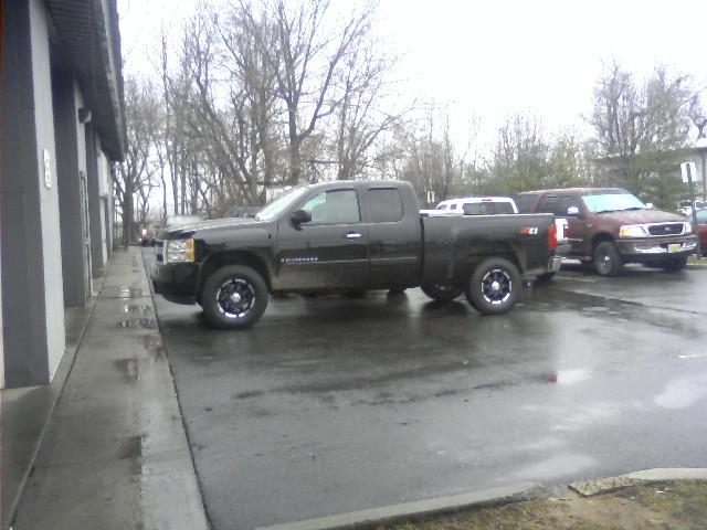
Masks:
[[[127,134],[116,0],[46,0],[62,67],[71,70],[108,158],[123,160]]]

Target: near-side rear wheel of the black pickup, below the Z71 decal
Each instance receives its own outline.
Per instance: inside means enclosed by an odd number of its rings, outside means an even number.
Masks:
[[[464,295],[477,311],[500,315],[516,305],[521,287],[520,273],[513,263],[490,257],[474,269]]]

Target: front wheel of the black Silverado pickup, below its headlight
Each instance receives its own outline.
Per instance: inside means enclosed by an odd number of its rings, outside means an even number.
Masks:
[[[260,274],[242,265],[228,265],[207,278],[201,307],[221,329],[245,329],[260,320],[267,308],[267,286]]]

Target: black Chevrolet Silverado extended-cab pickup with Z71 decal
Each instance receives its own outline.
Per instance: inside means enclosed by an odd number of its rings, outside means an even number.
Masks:
[[[168,232],[150,276],[224,329],[255,324],[271,293],[420,286],[494,315],[515,305],[521,275],[559,269],[556,243],[551,214],[434,216],[408,182],[334,181],[295,187],[253,219]]]

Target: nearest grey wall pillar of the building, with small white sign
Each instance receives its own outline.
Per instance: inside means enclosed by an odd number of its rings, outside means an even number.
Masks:
[[[2,14],[4,375],[27,386],[51,381],[65,346],[50,44],[41,0]]]

